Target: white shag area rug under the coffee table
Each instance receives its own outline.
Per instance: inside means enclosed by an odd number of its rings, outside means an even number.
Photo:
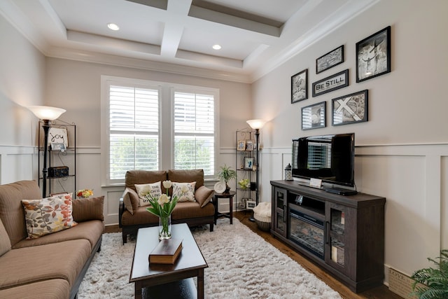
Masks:
[[[204,270],[205,298],[341,298],[236,218],[233,225],[218,219],[214,232],[208,226],[192,232],[209,265]],[[134,298],[134,284],[128,282],[134,245],[129,238],[123,245],[119,232],[104,234],[78,298]]]

